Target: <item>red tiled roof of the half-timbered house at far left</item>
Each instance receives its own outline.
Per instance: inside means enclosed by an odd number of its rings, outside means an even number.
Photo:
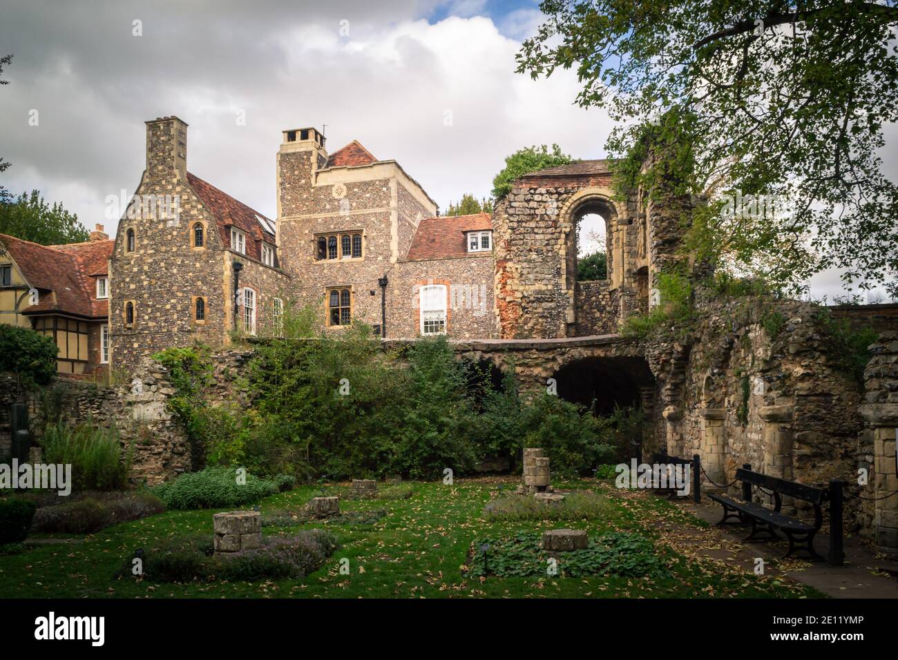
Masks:
[[[105,275],[112,241],[39,245],[0,234],[30,286],[40,292],[40,303],[23,310],[68,312],[87,318],[109,315],[108,301],[96,299],[96,277]]]

